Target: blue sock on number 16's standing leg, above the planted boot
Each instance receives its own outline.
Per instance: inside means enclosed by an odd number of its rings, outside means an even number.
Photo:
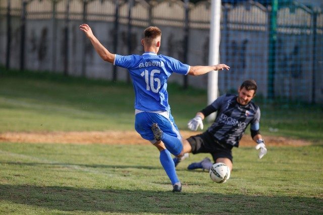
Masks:
[[[168,150],[161,151],[159,160],[160,160],[161,166],[164,167],[166,174],[171,179],[172,184],[179,182],[171,153]]]

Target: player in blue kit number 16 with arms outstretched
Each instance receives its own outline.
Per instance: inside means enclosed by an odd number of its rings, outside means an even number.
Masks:
[[[128,69],[135,91],[135,129],[159,150],[159,161],[172,182],[173,192],[181,192],[182,185],[171,154],[181,158],[184,153],[182,137],[168,104],[167,80],[172,73],[198,76],[213,70],[229,70],[230,67],[226,64],[190,66],[172,57],[157,55],[161,40],[161,31],[157,27],[144,30],[141,40],[144,53],[128,56],[110,53],[87,24],[80,25],[80,29],[103,60]]]

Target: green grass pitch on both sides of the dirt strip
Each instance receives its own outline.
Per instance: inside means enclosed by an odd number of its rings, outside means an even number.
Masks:
[[[169,92],[172,114],[186,129],[204,107],[205,91],[171,85]],[[133,102],[132,86],[124,83],[0,68],[0,133],[133,130]],[[275,107],[273,114],[264,106],[262,133],[313,144],[271,146],[261,160],[252,147],[234,149],[234,169],[224,184],[188,171],[206,156],[192,155],[177,167],[182,193],[171,192],[152,146],[0,139],[0,214],[322,214],[321,107]]]

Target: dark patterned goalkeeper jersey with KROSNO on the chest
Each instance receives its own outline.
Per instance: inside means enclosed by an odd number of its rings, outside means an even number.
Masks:
[[[236,95],[226,94],[220,96],[210,106],[214,108],[212,112],[218,111],[218,113],[208,132],[221,144],[238,147],[250,123],[250,129],[259,130],[260,109],[252,101],[243,106],[237,102]]]

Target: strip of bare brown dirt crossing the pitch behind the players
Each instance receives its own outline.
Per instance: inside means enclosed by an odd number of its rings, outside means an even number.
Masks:
[[[200,132],[181,131],[183,138]],[[310,142],[286,137],[264,136],[267,146],[308,146]],[[70,131],[70,132],[6,132],[0,142],[57,143],[57,144],[121,144],[150,145],[135,131]],[[250,135],[244,135],[240,146],[255,146]]]

